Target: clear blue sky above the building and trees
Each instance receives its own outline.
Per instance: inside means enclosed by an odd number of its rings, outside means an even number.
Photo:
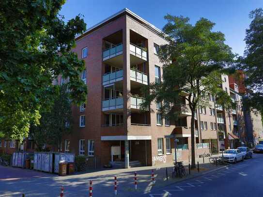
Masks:
[[[166,14],[188,16],[193,24],[207,18],[216,23],[215,31],[225,34],[233,52],[243,55],[248,14],[263,7],[263,0],[67,0],[60,14],[65,20],[82,14],[89,28],[125,7],[159,29],[166,23]]]

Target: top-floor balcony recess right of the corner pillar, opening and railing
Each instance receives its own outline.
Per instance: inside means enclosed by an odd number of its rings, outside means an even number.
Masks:
[[[148,61],[148,40],[132,30],[130,30],[129,49],[131,64],[140,64]]]

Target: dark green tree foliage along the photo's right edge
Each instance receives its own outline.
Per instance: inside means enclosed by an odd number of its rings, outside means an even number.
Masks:
[[[248,94],[244,98],[247,107],[263,111],[263,9],[250,12],[252,19],[246,30],[246,50],[241,57],[240,69],[245,71]]]

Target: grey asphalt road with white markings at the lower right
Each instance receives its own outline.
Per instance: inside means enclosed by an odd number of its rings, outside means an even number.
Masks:
[[[263,197],[263,154],[201,177],[153,189],[145,197]]]

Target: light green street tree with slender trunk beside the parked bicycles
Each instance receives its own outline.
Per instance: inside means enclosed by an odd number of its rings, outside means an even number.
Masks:
[[[152,101],[164,102],[166,105],[161,113],[176,120],[182,100],[188,102],[191,110],[191,166],[195,168],[195,112],[198,107],[208,105],[208,92],[216,95],[217,103],[225,108],[232,106],[231,97],[221,88],[221,74],[226,65],[232,64],[234,55],[224,44],[224,34],[212,31],[215,24],[211,21],[201,18],[191,25],[189,18],[183,16],[166,15],[165,19],[167,24],[163,36],[169,44],[162,45],[159,53],[159,59],[164,62],[163,80],[142,90],[146,93],[142,108]]]

